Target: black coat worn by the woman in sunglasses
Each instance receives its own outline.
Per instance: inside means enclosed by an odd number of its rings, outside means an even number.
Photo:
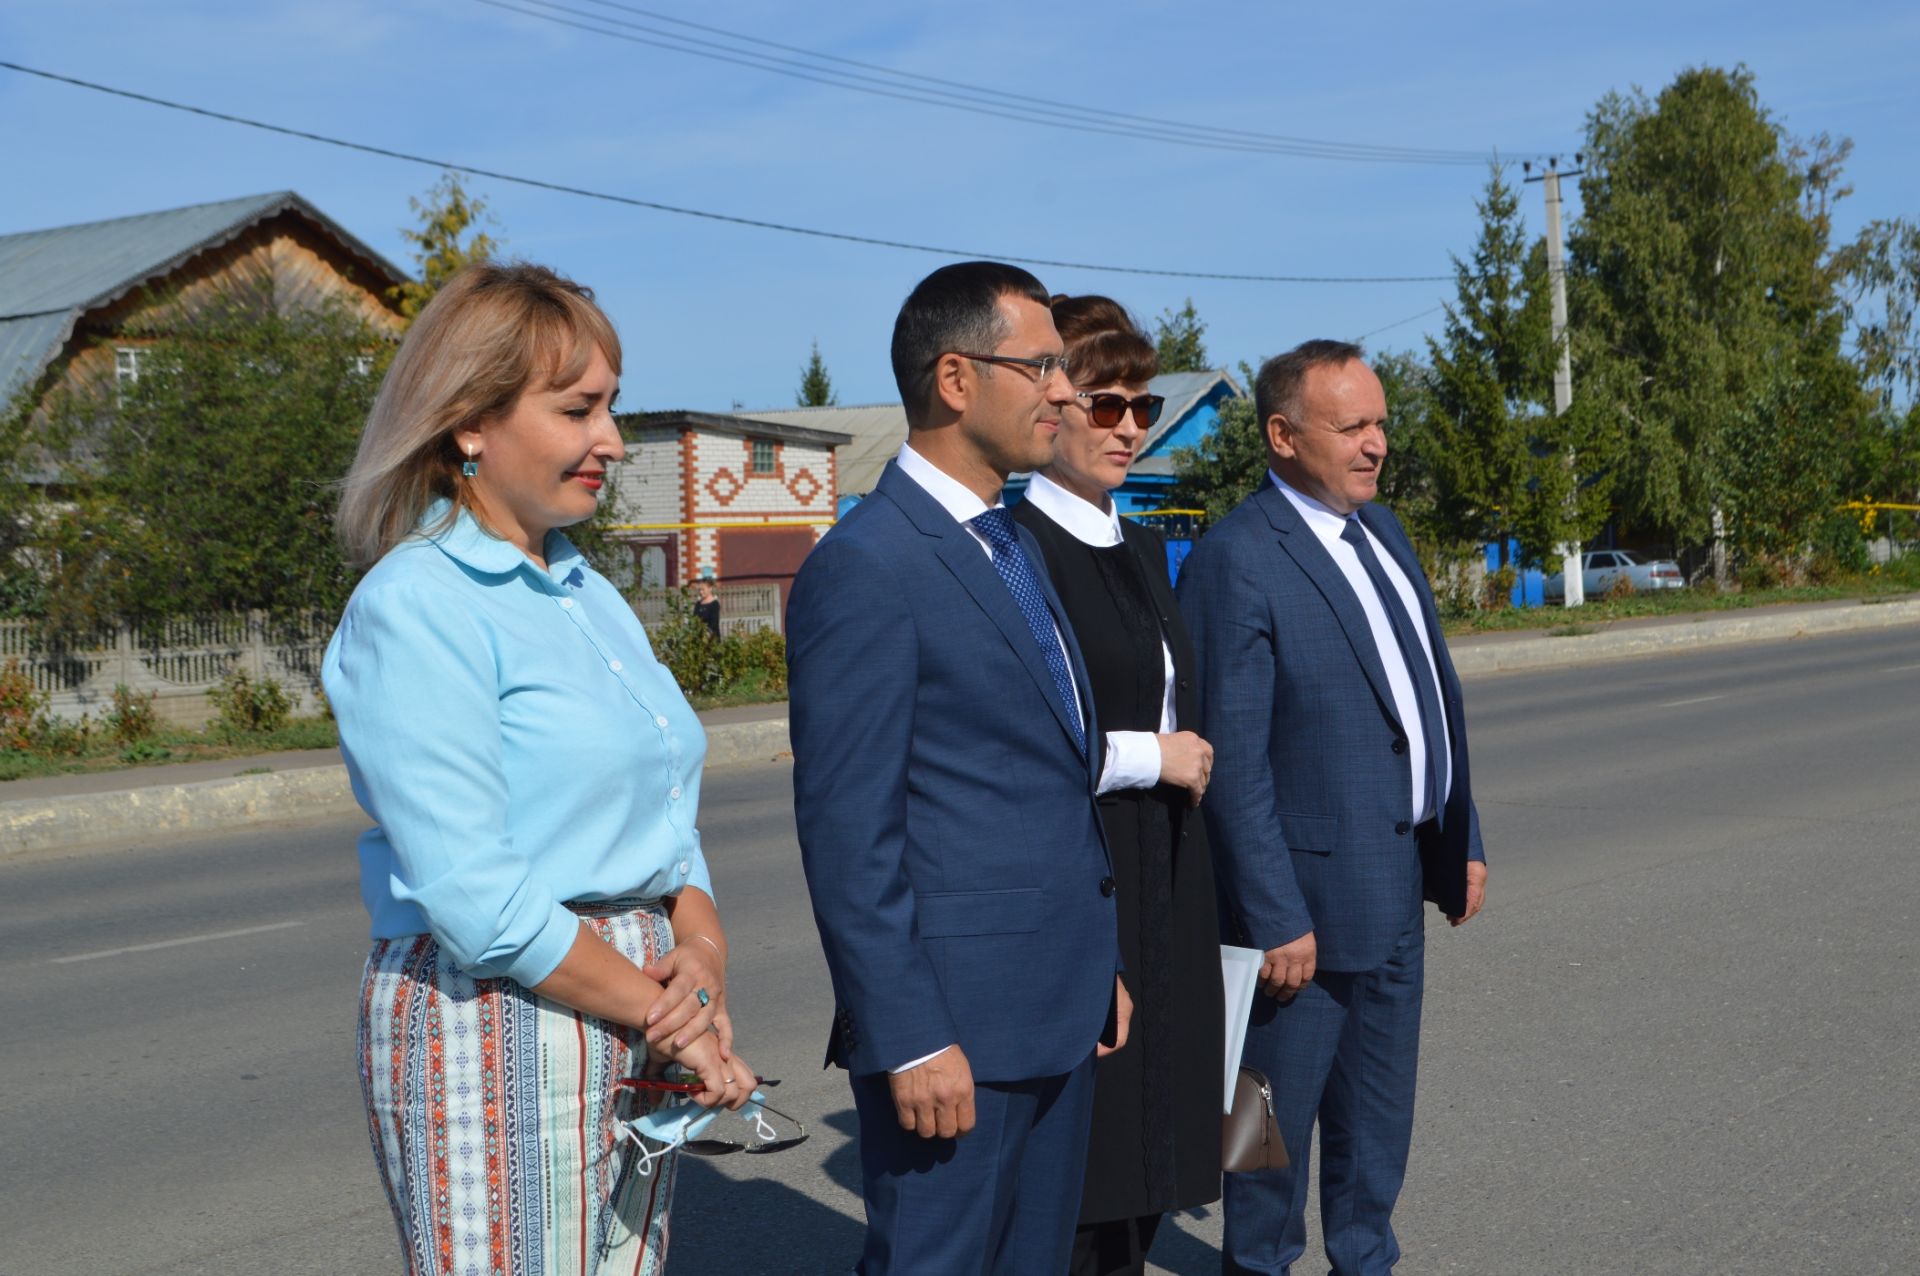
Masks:
[[[1100,729],[1160,729],[1162,639],[1173,652],[1177,725],[1198,723],[1192,641],[1160,535],[1121,520],[1123,543],[1094,549],[1031,501],[1016,507],[1014,520],[1046,558],[1081,643]],[[1219,1199],[1225,998],[1206,823],[1187,791],[1171,785],[1104,794],[1100,817],[1135,1009],[1127,1048],[1096,1065],[1081,1222]]]

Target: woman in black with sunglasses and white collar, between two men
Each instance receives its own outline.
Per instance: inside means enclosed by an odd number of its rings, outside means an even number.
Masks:
[[[1160,535],[1110,491],[1160,416],[1152,343],[1108,297],[1054,297],[1075,403],[1014,518],[1033,532],[1079,639],[1106,733],[1100,815],[1119,883],[1133,1030],[1094,1073],[1071,1276],[1144,1272],[1162,1215],[1219,1199],[1223,994],[1200,796],[1213,750]]]

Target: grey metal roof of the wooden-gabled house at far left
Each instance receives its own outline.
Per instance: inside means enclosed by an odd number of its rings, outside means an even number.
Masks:
[[[405,271],[348,234],[292,190],[161,213],[0,236],[0,393],[40,372],[81,315],[146,286],[248,226],[298,211],[397,284]]]

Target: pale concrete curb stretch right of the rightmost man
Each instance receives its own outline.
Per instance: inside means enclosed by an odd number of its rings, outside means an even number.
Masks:
[[[1461,677],[1484,673],[1517,673],[1523,670],[1551,670],[1571,664],[1603,664],[1634,656],[1670,654],[1695,647],[1736,647],[1741,643],[1774,643],[1780,639],[1843,633],[1857,629],[1889,629],[1920,624],[1920,601],[1862,603],[1814,612],[1764,610],[1734,616],[1713,616],[1678,626],[1644,629],[1603,629],[1574,637],[1528,637],[1517,641],[1455,641],[1450,643],[1453,668]]]

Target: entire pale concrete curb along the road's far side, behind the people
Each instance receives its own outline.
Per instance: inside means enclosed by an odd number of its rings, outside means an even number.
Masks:
[[[1699,647],[1887,629],[1920,624],[1920,601],[1734,614],[1692,624],[1609,629],[1578,637],[1457,639],[1461,677],[1605,664]],[[707,766],[745,766],[791,756],[785,718],[707,727]],[[150,785],[117,792],[0,802],[0,858],[31,850],[144,839],[154,833],[211,833],[353,812],[344,766],[234,775],[192,785]]]

